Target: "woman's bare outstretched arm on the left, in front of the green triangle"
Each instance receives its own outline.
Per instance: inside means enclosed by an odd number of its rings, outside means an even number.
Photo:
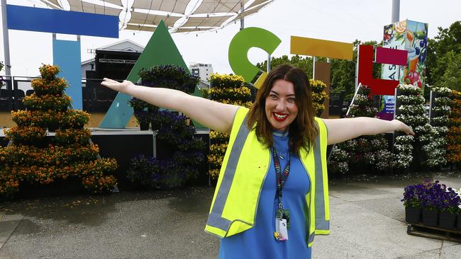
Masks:
[[[135,86],[131,81],[120,83],[112,79],[104,79],[101,85],[152,105],[178,110],[201,125],[218,132],[230,133],[233,117],[239,108],[237,105],[218,103],[173,89]]]

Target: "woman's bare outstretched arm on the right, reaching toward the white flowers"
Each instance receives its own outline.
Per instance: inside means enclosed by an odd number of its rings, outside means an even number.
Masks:
[[[411,127],[399,120],[380,120],[373,117],[355,117],[348,119],[324,119],[328,128],[328,144],[344,142],[362,135],[374,135],[385,132],[402,131],[414,135]]]

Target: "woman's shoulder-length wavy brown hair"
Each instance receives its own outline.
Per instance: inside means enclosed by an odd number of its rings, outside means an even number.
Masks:
[[[255,103],[252,104],[250,113],[248,113],[248,128],[255,129],[260,142],[272,146],[272,125],[267,119],[265,107],[266,98],[278,79],[289,81],[294,86],[294,102],[299,111],[296,119],[289,125],[289,137],[293,144],[292,151],[300,156],[301,149],[307,152],[311,150],[318,134],[318,126],[314,120],[311,86],[306,73],[301,69],[284,64],[267,74],[265,81],[257,91]]]

